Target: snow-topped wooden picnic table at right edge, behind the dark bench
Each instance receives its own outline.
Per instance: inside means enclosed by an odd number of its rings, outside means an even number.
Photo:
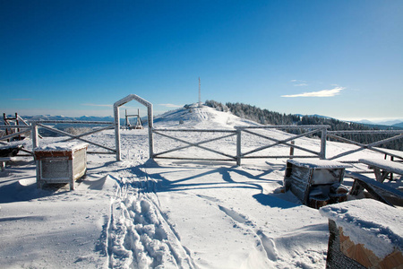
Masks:
[[[403,163],[382,159],[360,159],[358,161],[368,165],[369,169],[373,169],[376,181],[385,181],[390,173],[403,176]]]

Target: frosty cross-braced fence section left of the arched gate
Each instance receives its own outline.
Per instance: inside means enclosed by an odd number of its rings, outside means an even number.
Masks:
[[[64,132],[62,130],[56,129],[55,127],[47,126],[46,124],[73,124],[73,125],[106,125],[105,127],[100,127],[95,130],[91,130],[90,132],[84,133],[84,134],[70,134],[67,132]],[[48,131],[51,131],[56,134],[63,134],[65,136],[70,136],[70,138],[65,139],[62,142],[68,142],[71,140],[80,140],[81,142],[85,143],[90,143],[92,145],[95,145],[99,148],[102,148],[104,150],[107,150],[107,152],[87,152],[87,153],[92,153],[92,154],[116,154],[116,149],[109,148],[105,145],[102,145],[100,143],[96,143],[93,141],[90,141],[88,139],[82,138],[83,136],[90,135],[90,134],[95,134],[99,133],[101,131],[107,130],[107,129],[113,129],[115,128],[114,122],[110,121],[75,121],[75,120],[41,120],[41,121],[34,121],[32,122],[31,128],[32,128],[32,148],[35,149],[39,147],[39,132],[38,128],[42,127],[44,129],[47,129]]]

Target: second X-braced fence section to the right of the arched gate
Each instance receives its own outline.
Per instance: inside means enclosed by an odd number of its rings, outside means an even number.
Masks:
[[[330,126],[236,126],[236,164],[241,165],[241,159],[266,159],[266,158],[319,158],[326,159],[326,134]],[[253,130],[304,130],[303,134],[290,134],[286,139],[278,139],[268,134],[259,134]],[[250,150],[248,152],[242,152],[242,132],[246,134],[252,134],[254,136],[263,138],[274,143],[264,143],[260,147]],[[315,152],[307,147],[296,145],[292,141],[297,138],[308,136],[311,134],[321,134],[321,146],[319,152]],[[311,155],[252,155],[255,152],[262,152],[263,150],[279,146],[287,145],[293,149],[298,149],[303,152],[309,152]]]

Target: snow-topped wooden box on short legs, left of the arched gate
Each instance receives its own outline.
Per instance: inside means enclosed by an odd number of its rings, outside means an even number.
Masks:
[[[34,150],[37,164],[37,187],[44,183],[69,183],[74,189],[74,181],[87,171],[88,143],[56,143]]]

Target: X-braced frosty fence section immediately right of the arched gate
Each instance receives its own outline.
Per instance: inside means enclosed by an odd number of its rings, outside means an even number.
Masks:
[[[218,137],[213,137],[213,138],[209,138],[207,140],[201,140],[199,142],[188,142],[182,138],[178,138],[175,137],[173,135],[169,135],[167,133],[169,132],[182,132],[182,133],[200,133],[200,134],[205,134],[205,133],[210,133],[210,134],[223,134],[221,136]],[[207,146],[204,146],[202,144],[205,143],[211,143],[211,142],[215,142],[218,140],[222,140],[222,139],[226,139],[228,137],[231,136],[236,136],[236,130],[223,130],[223,129],[156,129],[154,128],[152,130],[153,134],[158,134],[160,136],[164,136],[170,140],[179,142],[179,143],[184,143],[185,145],[183,146],[178,146],[176,148],[164,151],[164,152],[158,152],[158,153],[153,153],[152,156],[154,159],[174,159],[174,160],[189,160],[189,161],[236,161],[236,155],[230,155],[226,152],[223,151],[219,151],[219,149],[211,149]],[[187,148],[191,148],[191,147],[196,147],[199,148],[201,150],[207,151],[207,152],[213,152],[216,154],[219,154],[221,156],[226,157],[225,159],[212,159],[212,158],[195,158],[195,157],[185,157],[184,155],[182,155],[181,157],[177,157],[177,156],[166,156],[167,153],[170,152],[178,152],[178,151],[182,151],[184,149]],[[163,156],[165,155],[165,156]]]

